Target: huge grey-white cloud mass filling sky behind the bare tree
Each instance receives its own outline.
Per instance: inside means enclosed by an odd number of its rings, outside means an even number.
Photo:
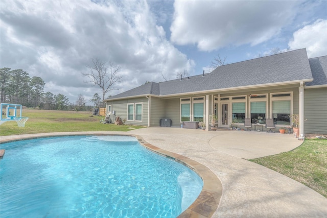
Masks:
[[[41,77],[49,83],[45,92],[67,92],[62,94],[71,102],[80,93],[101,95],[100,88],[83,82],[81,72],[91,58],[121,66],[123,81],[116,84],[121,91],[162,81],[161,74],[192,71],[195,65],[167,40],[145,1],[1,4],[1,67]]]

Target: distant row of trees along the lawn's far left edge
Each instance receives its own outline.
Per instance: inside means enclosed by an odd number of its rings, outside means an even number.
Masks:
[[[40,77],[30,77],[22,69],[4,67],[0,69],[1,103],[20,104],[30,108],[45,110],[90,110],[82,94],[78,96],[76,103],[69,103],[64,94],[44,93],[45,82]],[[99,94],[95,94],[91,100],[95,106],[101,105]]]

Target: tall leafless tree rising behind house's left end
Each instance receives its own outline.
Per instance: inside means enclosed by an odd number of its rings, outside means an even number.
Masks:
[[[121,82],[122,76],[119,76],[120,66],[114,65],[112,62],[109,62],[109,66],[106,65],[106,62],[101,60],[92,59],[92,65],[86,66],[90,69],[89,73],[82,73],[84,76],[88,77],[90,80],[86,81],[87,83],[93,83],[98,85],[102,89],[102,100],[104,100],[104,95],[111,90],[119,90],[118,88],[113,88],[112,86],[116,82]],[[103,102],[105,107],[105,102]]]

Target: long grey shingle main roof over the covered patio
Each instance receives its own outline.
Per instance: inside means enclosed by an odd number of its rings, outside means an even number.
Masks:
[[[169,96],[190,92],[312,81],[306,49],[217,67],[209,74],[166,82],[150,82],[106,100],[144,95]]]

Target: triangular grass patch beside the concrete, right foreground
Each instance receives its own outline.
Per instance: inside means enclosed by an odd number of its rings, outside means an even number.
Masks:
[[[327,140],[306,139],[290,152],[250,160],[288,176],[327,197]]]

